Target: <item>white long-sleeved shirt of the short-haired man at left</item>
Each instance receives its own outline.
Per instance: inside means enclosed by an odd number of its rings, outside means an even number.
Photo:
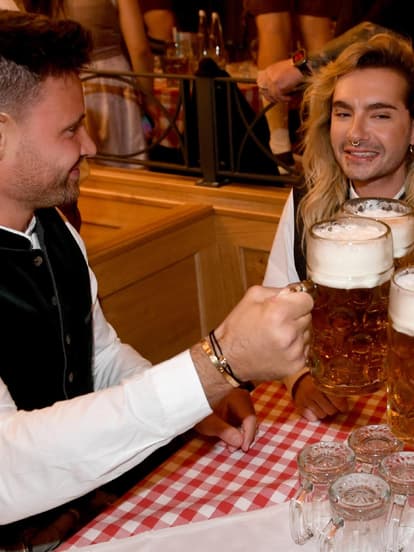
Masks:
[[[23,235],[38,247],[33,224]],[[1,524],[88,493],[211,413],[189,351],[151,367],[105,320],[90,277],[96,392],[27,412],[0,379]]]

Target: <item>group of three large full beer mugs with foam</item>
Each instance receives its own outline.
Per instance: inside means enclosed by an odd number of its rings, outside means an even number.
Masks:
[[[326,393],[370,393],[387,383],[388,423],[414,446],[414,213],[383,198],[345,202],[307,235],[315,284],[308,364]]]

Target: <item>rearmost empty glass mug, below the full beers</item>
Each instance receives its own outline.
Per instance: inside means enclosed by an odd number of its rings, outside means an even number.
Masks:
[[[375,473],[384,456],[402,450],[404,443],[397,439],[387,424],[373,424],[354,429],[348,445],[355,452],[355,470]]]

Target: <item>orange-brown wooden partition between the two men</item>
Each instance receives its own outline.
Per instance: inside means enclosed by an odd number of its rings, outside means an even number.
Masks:
[[[216,326],[261,283],[287,194],[92,167],[81,234],[120,337],[156,362]]]

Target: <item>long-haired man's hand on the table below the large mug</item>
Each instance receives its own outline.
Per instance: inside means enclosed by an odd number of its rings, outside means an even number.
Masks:
[[[298,412],[311,422],[348,411],[346,397],[326,395],[316,387],[310,374],[297,383],[293,401]]]

